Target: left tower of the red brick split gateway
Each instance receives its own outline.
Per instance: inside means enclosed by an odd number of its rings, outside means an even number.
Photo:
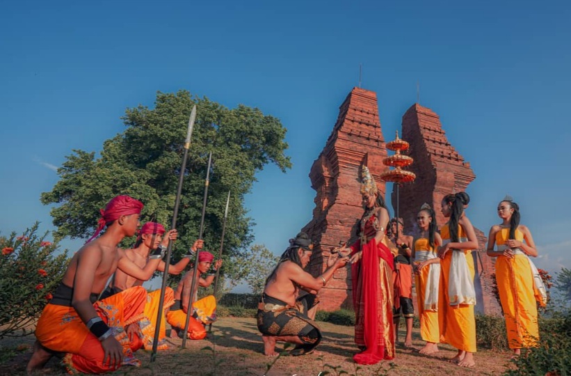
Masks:
[[[379,178],[387,169],[382,163],[384,157],[387,150],[380,129],[377,95],[353,88],[339,107],[337,122],[309,173],[316,191],[315,208],[312,221],[303,230],[319,242],[309,264],[313,275],[325,269],[332,246],[355,238],[355,226],[363,214],[358,180],[363,162],[385,194],[385,183]],[[332,281],[319,294],[319,309],[335,311],[352,305],[350,274],[348,267],[335,272]]]

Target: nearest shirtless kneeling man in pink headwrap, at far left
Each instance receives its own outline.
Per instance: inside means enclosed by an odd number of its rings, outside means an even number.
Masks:
[[[124,237],[135,235],[142,209],[143,203],[129,196],[116,196],[106,205],[90,240],[105,226],[107,230],[74,254],[54,298],[38,320],[27,373],[62,353],[68,353],[63,359],[68,370],[83,373],[104,373],[122,364],[139,364],[132,356],[124,324],[136,322],[143,313],[147,292],[138,287],[102,302],[97,297],[118,266],[138,279],[149,279],[159,264],[160,258],[140,269],[117,247]]]

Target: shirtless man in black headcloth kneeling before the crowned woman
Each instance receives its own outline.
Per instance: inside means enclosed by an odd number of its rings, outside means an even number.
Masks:
[[[264,354],[269,357],[278,355],[275,352],[278,341],[296,345],[291,355],[312,352],[319,345],[321,331],[307,317],[307,311],[317,303],[315,294],[327,284],[335,270],[347,263],[346,257],[339,258],[339,253],[335,256],[330,253],[328,268],[314,277],[303,270],[312,255],[312,240],[307,234],[299,233],[289,242],[291,245],[266,279],[266,288],[258,306],[258,329],[264,340]],[[309,294],[300,297],[300,289]]]

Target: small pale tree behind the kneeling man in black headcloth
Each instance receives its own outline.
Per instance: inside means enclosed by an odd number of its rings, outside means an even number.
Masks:
[[[238,280],[248,283],[252,294],[262,294],[266,287],[266,278],[279,260],[280,258],[265,246],[255,244],[243,251],[240,256],[233,258],[232,265],[236,270],[234,275]]]

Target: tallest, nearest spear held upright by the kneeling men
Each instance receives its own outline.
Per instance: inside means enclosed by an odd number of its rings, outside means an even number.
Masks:
[[[184,180],[184,171],[186,170],[186,157],[188,157],[188,149],[191,147],[191,136],[193,133],[194,120],[196,118],[196,104],[191,111],[191,118],[188,119],[188,130],[186,131],[186,139],[184,140],[184,155],[182,157],[182,166],[179,173],[179,185],[177,188],[177,198],[175,199],[175,210],[172,213],[172,223],[170,228],[177,228],[177,216],[179,214],[180,196],[182,192],[182,181]],[[161,320],[163,319],[163,306],[165,304],[165,290],[168,279],[168,265],[170,265],[170,251],[172,250],[172,242],[168,241],[166,249],[165,272],[163,273],[163,284],[161,285],[161,296],[159,297],[159,313],[156,315],[156,327],[154,328],[153,347],[151,353],[151,361],[156,359],[156,347],[159,344],[159,334],[161,332]]]

